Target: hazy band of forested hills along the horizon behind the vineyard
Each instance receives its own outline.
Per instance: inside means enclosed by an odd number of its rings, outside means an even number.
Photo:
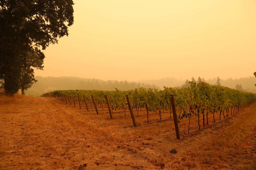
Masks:
[[[221,78],[221,77],[220,77]],[[78,78],[78,77],[41,77],[36,76],[35,79],[38,82],[34,83],[31,88],[29,88],[25,94],[29,96],[40,96],[45,92],[52,90],[129,90],[138,87],[146,88],[158,88],[163,89],[163,86],[166,87],[182,87],[185,84],[186,80],[178,80],[175,78],[162,78],[158,80],[141,80],[137,82],[128,82],[128,81],[116,81],[116,80],[99,80],[99,79],[87,79],[87,78]],[[195,81],[198,78],[194,78]],[[188,79],[191,81],[191,78]],[[207,83],[215,84],[217,78],[205,80]],[[256,82],[255,77],[247,77],[240,79],[221,79],[220,83],[222,86],[248,91],[256,93],[256,87],[254,86]],[[21,92],[20,92],[21,93]]]

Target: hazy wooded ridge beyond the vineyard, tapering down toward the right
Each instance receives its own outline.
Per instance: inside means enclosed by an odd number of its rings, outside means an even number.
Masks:
[[[78,77],[41,77],[36,76],[36,83],[25,94],[28,96],[40,96],[53,90],[130,90],[138,87],[159,88],[154,84],[136,83],[116,80],[99,80]],[[160,89],[160,88],[159,88]],[[21,91],[19,91],[21,93]]]

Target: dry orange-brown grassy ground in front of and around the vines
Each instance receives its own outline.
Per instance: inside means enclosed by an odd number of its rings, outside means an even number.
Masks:
[[[49,97],[11,98],[0,97],[0,169],[256,169],[255,104],[221,121],[215,113],[215,123],[209,114],[205,128],[201,116],[200,130],[192,117],[189,134],[183,119],[176,139],[170,111],[162,121],[150,112],[149,123],[144,109],[134,111],[134,127],[129,111],[111,120],[107,108],[97,115],[41,100]]]

